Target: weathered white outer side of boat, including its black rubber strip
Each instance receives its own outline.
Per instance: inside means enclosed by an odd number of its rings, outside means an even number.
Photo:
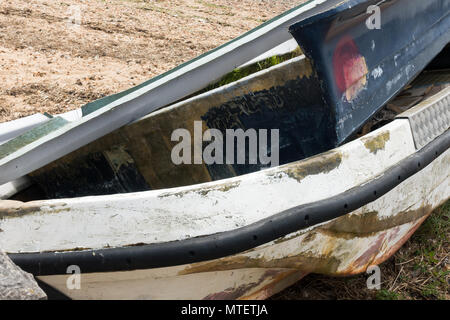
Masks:
[[[135,194],[0,201],[0,245],[16,263],[75,299],[263,299],[311,272],[357,274],[389,258],[450,197],[449,125],[447,88],[358,140],[281,167]],[[411,166],[417,167],[408,169],[414,174],[397,177]],[[383,179],[397,182],[389,190],[369,188]],[[344,200],[366,189],[373,200],[358,206]],[[333,199],[339,212],[326,212],[334,218],[316,223],[323,212],[309,204]],[[300,214],[305,208],[311,216]],[[287,212],[286,221],[300,215],[311,226],[269,241],[260,240],[266,235],[255,227],[253,238],[249,233],[240,244],[247,249],[220,256],[229,233],[239,237],[255,225],[270,229],[273,219],[278,234],[279,212]],[[63,234],[54,232],[62,227]],[[205,239],[216,243],[217,252],[175,250],[192,262],[160,267],[166,262],[152,260],[154,246],[195,247]],[[131,251],[142,255],[127,256]],[[70,257],[81,258],[78,263]],[[122,268],[121,259],[129,267]],[[178,258],[164,261],[170,259]],[[72,275],[61,271],[67,262],[80,266],[80,289],[67,287]]]

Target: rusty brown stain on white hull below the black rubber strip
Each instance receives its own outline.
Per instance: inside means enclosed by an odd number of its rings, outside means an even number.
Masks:
[[[392,248],[397,249],[386,251],[386,248],[384,248],[386,241],[395,240],[400,232],[401,225],[412,224],[411,230],[416,230],[431,214],[432,210],[432,206],[425,205],[417,210],[400,212],[398,215],[390,218],[380,218],[375,212],[367,212],[361,216],[356,214],[346,215],[307,231],[305,234],[296,234],[274,242],[274,245],[284,242],[295,242],[297,247],[307,246],[310,243],[310,247],[316,248],[314,252],[307,251],[268,260],[263,255],[256,255],[255,257],[253,254],[253,256],[250,256],[257,250],[254,249],[240,255],[190,265],[180,271],[179,275],[240,268],[270,269],[277,267],[293,269],[305,274],[312,272],[327,275],[358,274],[364,272],[368,266],[382,263],[388,259],[412,235],[414,231],[408,231],[399,240],[401,244],[397,241],[392,246]],[[358,243],[367,237],[376,237],[376,240],[372,241],[371,245],[364,250],[364,253],[347,258],[342,258],[338,255],[337,252],[346,251],[344,247],[336,248],[338,239],[345,239],[346,242],[343,243],[346,243],[347,246],[358,248],[360,247]],[[321,242],[321,244],[316,243],[317,241]],[[378,257],[380,252],[385,253]],[[349,265],[349,267],[342,269],[345,265]]]

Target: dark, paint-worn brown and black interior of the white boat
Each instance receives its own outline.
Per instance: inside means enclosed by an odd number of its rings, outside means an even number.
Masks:
[[[355,130],[350,140],[389,123],[395,116],[450,85],[449,46],[394,100]],[[208,129],[279,129],[279,164],[302,160],[337,147],[331,111],[310,61],[290,54],[236,69],[201,92],[166,106],[44,166],[31,186],[12,200],[74,198],[139,192],[216,181],[267,168],[267,164],[179,164],[171,154],[176,129],[192,138],[192,150],[209,142],[195,137]],[[227,136],[224,134],[224,139]],[[197,140],[196,140],[197,139]],[[267,138],[267,155],[271,153]],[[226,141],[223,141],[226,145]],[[345,141],[348,142],[348,141]],[[195,144],[197,143],[197,146]],[[249,159],[248,148],[245,159]],[[224,149],[224,152],[226,150]],[[235,152],[236,153],[236,152]]]

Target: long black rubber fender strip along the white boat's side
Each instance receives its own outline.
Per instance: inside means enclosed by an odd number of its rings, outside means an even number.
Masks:
[[[297,206],[232,231],[159,244],[99,250],[14,253],[10,258],[34,275],[169,267],[219,259],[267,244],[293,232],[330,221],[366,205],[424,169],[450,147],[450,130],[377,178],[334,197]]]

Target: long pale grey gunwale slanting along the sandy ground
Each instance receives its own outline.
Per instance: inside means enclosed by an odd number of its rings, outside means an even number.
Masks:
[[[0,175],[0,184],[26,175],[38,167],[114,131],[114,129],[201,90],[204,85],[210,84],[211,80],[217,80],[235,67],[266,52],[271,46],[273,48],[274,45],[292,39],[285,29],[294,21],[329,10],[330,7],[336,6],[336,2],[339,0],[305,2],[230,42],[137,87],[103,98],[107,100],[102,100],[106,101],[104,105],[97,101],[100,106],[95,107],[92,112],[83,112],[81,119],[68,123],[61,129],[28,144],[7,157],[0,158],[0,168],[6,172],[6,174]],[[249,46],[252,46],[250,50],[252,53],[249,53]],[[245,55],[251,57],[245,58]],[[216,72],[211,72],[211,66],[216,69]],[[207,74],[215,74],[215,78],[212,79],[212,76],[207,76]],[[200,75],[202,76],[199,77]],[[192,88],[180,89],[180,82],[185,82],[193,77],[201,78],[201,81],[197,81],[198,83],[195,84],[195,88],[192,85],[193,81],[189,81]],[[208,80],[209,78],[211,79]],[[174,93],[174,89],[184,93]],[[77,135],[79,136],[74,138]],[[50,150],[53,151],[50,152]]]

